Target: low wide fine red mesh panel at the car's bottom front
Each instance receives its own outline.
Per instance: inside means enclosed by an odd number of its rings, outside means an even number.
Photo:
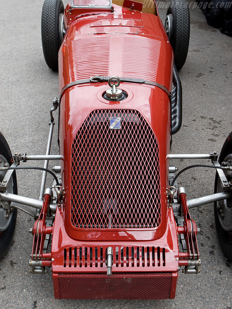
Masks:
[[[172,273],[60,273],[61,299],[170,298]]]

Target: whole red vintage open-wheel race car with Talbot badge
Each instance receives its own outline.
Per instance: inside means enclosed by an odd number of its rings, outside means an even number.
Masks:
[[[61,0],[44,2],[43,51],[59,69],[60,94],[46,155],[12,156],[0,134],[0,257],[17,209],[31,215],[31,271],[51,268],[55,298],[174,298],[178,271],[200,272],[189,210],[206,203],[215,203],[218,237],[232,260],[232,132],[219,158],[170,154],[182,121],[178,70],[189,24],[184,0],[172,0],[165,27],[153,0],[72,0],[65,9]],[[57,108],[60,155],[50,155]],[[212,165],[175,175],[174,159],[197,158]],[[44,167],[20,164],[29,160]],[[60,165],[50,171],[49,160]],[[177,179],[198,166],[217,170],[215,193],[187,200]],[[15,170],[25,168],[43,171],[38,199],[17,195]]]

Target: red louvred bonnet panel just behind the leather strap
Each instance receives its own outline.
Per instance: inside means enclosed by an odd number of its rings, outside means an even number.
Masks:
[[[66,74],[59,75],[60,91],[71,82],[94,75],[142,78],[171,88],[172,49],[161,38],[128,34],[74,36],[63,43],[61,51],[59,70]]]

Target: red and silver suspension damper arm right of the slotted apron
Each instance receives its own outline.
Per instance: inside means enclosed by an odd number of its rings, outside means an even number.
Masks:
[[[177,226],[177,233],[184,235],[187,249],[187,252],[179,253],[179,266],[185,266],[184,273],[200,273],[199,266],[201,262],[196,239],[199,230],[195,221],[191,219],[187,206],[186,192],[183,187],[178,188],[177,198],[181,203],[184,219],[183,226]]]

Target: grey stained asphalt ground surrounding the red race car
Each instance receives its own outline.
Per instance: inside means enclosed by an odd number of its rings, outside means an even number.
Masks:
[[[49,110],[58,95],[58,73],[47,67],[43,57],[42,5],[43,0],[0,2],[0,130],[13,153],[45,153]],[[165,12],[165,8],[159,11],[163,21]],[[232,130],[232,37],[208,26],[194,2],[190,3],[190,16],[189,53],[179,72],[183,85],[183,126],[174,135],[172,153],[209,153],[220,151]],[[58,154],[56,140],[57,125],[53,154]],[[181,161],[174,163],[179,169],[196,162]],[[206,161],[200,162],[207,164]],[[214,170],[205,168],[186,171],[179,180],[187,190],[187,198],[213,193],[214,175]],[[17,177],[19,194],[37,198],[41,172],[18,171]],[[51,181],[49,176],[48,179]],[[19,211],[13,242],[0,261],[0,308],[231,308],[232,263],[217,240],[213,204],[191,210],[191,215],[201,228],[197,236],[201,273],[179,273],[174,300],[84,301],[55,300],[51,273],[29,273],[32,235],[28,230],[33,220]]]

